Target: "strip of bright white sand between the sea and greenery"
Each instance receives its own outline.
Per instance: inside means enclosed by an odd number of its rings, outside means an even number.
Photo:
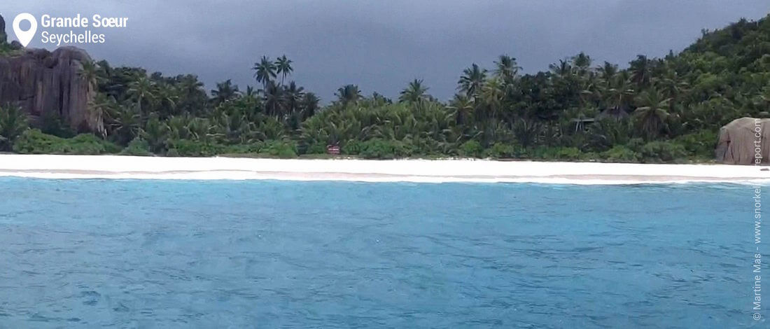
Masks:
[[[574,184],[770,183],[758,166],[443,160],[0,155],[0,176],[49,179],[340,180]]]

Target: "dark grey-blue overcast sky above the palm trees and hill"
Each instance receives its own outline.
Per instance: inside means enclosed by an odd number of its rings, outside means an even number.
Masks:
[[[256,85],[251,67],[263,55],[286,55],[287,78],[323,101],[340,86],[397,98],[413,79],[449,99],[472,63],[492,68],[498,55],[524,72],[586,52],[598,65],[627,65],[638,54],[681,51],[701,29],[770,13],[767,0],[92,0],[13,1],[2,5],[8,39],[15,15],[128,17],[121,29],[95,29],[101,44],[79,44],[111,65],[142,66],[166,75],[192,73],[212,89],[233,79]],[[53,50],[39,27],[28,45]],[[69,32],[70,29],[45,29]],[[72,29],[83,32],[82,29]]]

